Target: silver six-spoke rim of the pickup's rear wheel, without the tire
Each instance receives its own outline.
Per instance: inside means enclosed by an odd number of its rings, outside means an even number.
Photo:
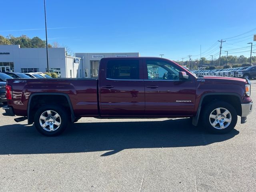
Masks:
[[[61,118],[57,112],[47,110],[41,114],[39,122],[44,130],[55,131],[60,127]]]

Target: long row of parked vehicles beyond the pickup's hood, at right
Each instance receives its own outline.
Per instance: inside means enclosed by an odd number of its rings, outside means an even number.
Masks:
[[[197,76],[221,76],[221,77],[242,77],[242,78],[256,78],[256,66],[238,67],[228,69],[215,70],[191,70]]]

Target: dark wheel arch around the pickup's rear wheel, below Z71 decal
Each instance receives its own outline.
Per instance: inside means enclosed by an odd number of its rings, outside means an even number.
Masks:
[[[28,107],[27,107],[28,124],[32,124],[34,122],[34,113],[33,113],[34,108],[36,106],[40,106],[40,104],[44,104],[45,99],[40,100],[41,102],[36,103],[37,105],[35,105],[33,103],[33,101],[35,99],[38,100],[39,98],[42,98],[42,96],[50,97],[51,98],[50,103],[53,103],[53,102],[56,102],[56,101],[58,101],[58,102],[66,101],[65,104],[63,103],[63,106],[65,106],[69,110],[71,121],[74,122],[74,120],[76,119],[76,116],[74,115],[74,110],[73,110],[70,98],[67,94],[65,94],[65,93],[33,93],[33,94],[30,95],[30,97],[28,99]],[[58,99],[57,99],[57,97],[58,97]]]

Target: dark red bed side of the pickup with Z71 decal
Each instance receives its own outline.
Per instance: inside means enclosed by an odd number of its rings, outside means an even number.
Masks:
[[[47,95],[61,93],[68,96],[75,116],[98,114],[97,79],[8,79],[7,84],[13,85],[13,100],[9,100],[8,105],[16,106],[14,112],[18,116],[27,116],[28,98],[32,99],[30,95],[44,93]]]

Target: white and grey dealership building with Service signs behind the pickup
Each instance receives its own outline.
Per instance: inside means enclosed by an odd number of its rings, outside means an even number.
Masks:
[[[49,71],[63,78],[96,78],[101,58],[138,57],[139,53],[75,53],[66,56],[65,48],[48,48]],[[0,72],[46,72],[46,48],[20,48],[0,45]]]

